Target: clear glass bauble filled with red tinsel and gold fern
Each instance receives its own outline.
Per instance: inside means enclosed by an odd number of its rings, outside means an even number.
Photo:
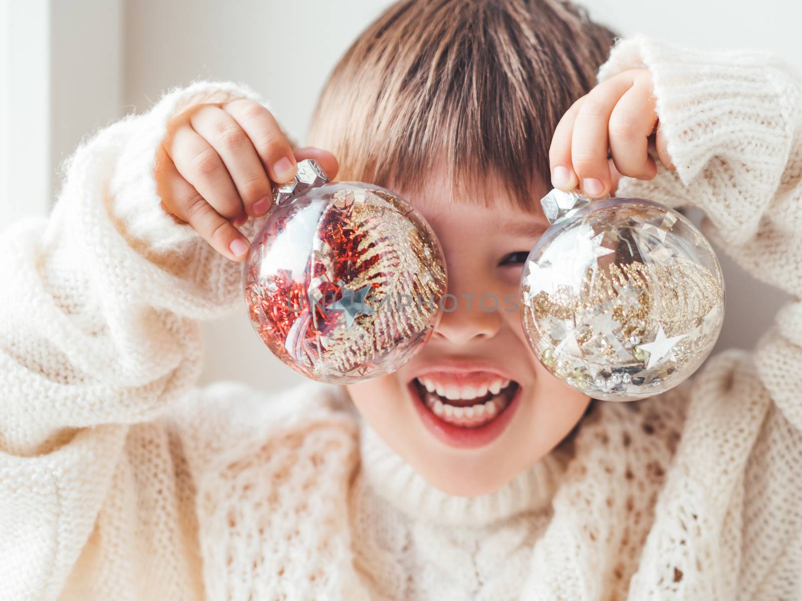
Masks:
[[[310,159],[273,196],[243,272],[261,340],[318,381],[354,383],[406,363],[446,292],[443,252],[423,217],[379,186],[329,183]]]

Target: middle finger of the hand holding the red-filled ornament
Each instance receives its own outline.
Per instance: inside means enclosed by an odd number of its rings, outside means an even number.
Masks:
[[[253,217],[264,215],[270,204],[270,181],[253,143],[237,121],[220,107],[206,105],[193,112],[189,122],[220,155],[245,205],[245,212]],[[260,201],[263,202],[257,204]],[[254,204],[257,204],[256,212]]]

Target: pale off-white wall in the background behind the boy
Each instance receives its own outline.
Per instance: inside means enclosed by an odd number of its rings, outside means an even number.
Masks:
[[[764,48],[802,72],[802,2],[586,0],[623,35],[698,48]],[[303,138],[338,57],[387,0],[0,0],[0,230],[47,212],[56,167],[83,135],[196,78],[249,83]],[[719,348],[751,346],[784,297],[726,259]],[[245,313],[207,326],[203,381],[284,386]]]

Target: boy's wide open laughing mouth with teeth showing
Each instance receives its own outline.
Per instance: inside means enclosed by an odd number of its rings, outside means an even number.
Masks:
[[[520,385],[491,373],[427,373],[409,383],[423,423],[450,446],[476,447],[496,438],[512,419]]]

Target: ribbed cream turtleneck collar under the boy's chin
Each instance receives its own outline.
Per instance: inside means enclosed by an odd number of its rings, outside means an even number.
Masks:
[[[432,486],[359,418],[362,470],[368,486],[391,505],[442,525],[484,526],[524,511],[550,506],[567,457],[554,450],[500,489],[475,497],[448,494]]]

